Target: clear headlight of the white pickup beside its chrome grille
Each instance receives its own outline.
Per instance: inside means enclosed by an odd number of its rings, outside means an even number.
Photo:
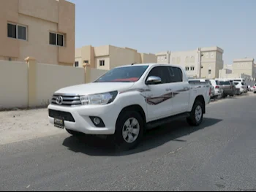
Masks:
[[[116,99],[118,92],[113,91],[109,93],[99,93],[88,96],[80,96],[80,101],[83,105],[87,104],[110,104]]]

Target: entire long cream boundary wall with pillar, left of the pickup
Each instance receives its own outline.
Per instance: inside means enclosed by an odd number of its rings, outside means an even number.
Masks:
[[[90,77],[90,74],[88,74]],[[93,72],[96,77],[99,72]],[[0,110],[46,107],[59,88],[85,83],[85,69],[71,66],[0,61]]]

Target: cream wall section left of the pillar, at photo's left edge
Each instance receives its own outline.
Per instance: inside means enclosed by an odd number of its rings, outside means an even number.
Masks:
[[[28,66],[0,61],[0,110],[28,105]]]

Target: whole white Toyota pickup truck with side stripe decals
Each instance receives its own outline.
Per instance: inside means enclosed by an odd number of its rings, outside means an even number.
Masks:
[[[124,149],[143,133],[176,118],[198,126],[210,102],[209,85],[190,85],[180,66],[132,64],[111,69],[98,80],[53,94],[50,123],[74,136],[108,135]]]

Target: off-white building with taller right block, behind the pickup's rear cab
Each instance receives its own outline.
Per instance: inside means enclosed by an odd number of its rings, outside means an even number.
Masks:
[[[177,64],[184,67],[188,77],[219,77],[223,68],[224,51],[219,47],[201,47],[188,51],[166,51],[157,53],[159,64]]]

